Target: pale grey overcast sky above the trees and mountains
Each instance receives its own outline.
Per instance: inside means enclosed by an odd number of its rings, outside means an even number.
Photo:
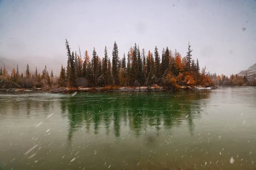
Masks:
[[[168,46],[217,74],[236,74],[256,63],[256,0],[0,0],[0,57],[54,57],[93,47],[119,57],[134,43],[159,53]],[[47,64],[47,63],[46,63]],[[14,66],[15,67],[15,66]],[[60,65],[56,65],[60,68]]]

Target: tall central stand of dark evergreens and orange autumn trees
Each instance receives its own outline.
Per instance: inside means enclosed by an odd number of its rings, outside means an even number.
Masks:
[[[180,88],[181,85],[212,86],[214,83],[205,73],[200,72],[198,59],[192,59],[191,45],[188,46],[186,57],[173,53],[168,47],[163,48],[162,57],[155,47],[154,55],[149,50],[146,54],[143,48],[135,43],[128,54],[119,58],[119,51],[114,42],[112,62],[105,47],[104,57],[101,59],[96,49],[90,60],[85,51],[84,61],[76,52],[71,52],[66,40],[67,68],[61,66],[59,84],[68,87],[104,87],[104,86],[151,86],[157,84],[166,88]]]

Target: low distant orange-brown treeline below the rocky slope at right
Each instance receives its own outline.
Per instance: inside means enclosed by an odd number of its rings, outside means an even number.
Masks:
[[[211,77],[212,81],[215,82],[215,85],[227,85],[227,86],[242,86],[242,85],[248,85],[248,86],[256,86],[256,79],[247,79],[247,74],[244,76],[239,76],[239,75],[234,75],[231,74],[230,77],[221,74],[221,75],[216,75],[214,74],[209,74]]]

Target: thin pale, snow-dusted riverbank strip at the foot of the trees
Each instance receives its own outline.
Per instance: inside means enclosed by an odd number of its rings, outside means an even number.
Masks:
[[[181,86],[180,90],[211,90],[216,89],[217,86],[201,87],[201,86]],[[157,85],[150,87],[116,87],[108,86],[103,88],[12,88],[0,89],[0,91],[14,91],[14,92],[49,92],[49,93],[72,93],[72,92],[136,92],[136,91],[177,91],[176,89],[167,89]]]

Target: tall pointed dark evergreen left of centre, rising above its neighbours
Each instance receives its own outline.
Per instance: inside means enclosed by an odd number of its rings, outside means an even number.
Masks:
[[[112,75],[114,80],[114,85],[119,85],[119,57],[118,57],[118,48],[116,41],[114,43],[113,52],[112,52]]]

